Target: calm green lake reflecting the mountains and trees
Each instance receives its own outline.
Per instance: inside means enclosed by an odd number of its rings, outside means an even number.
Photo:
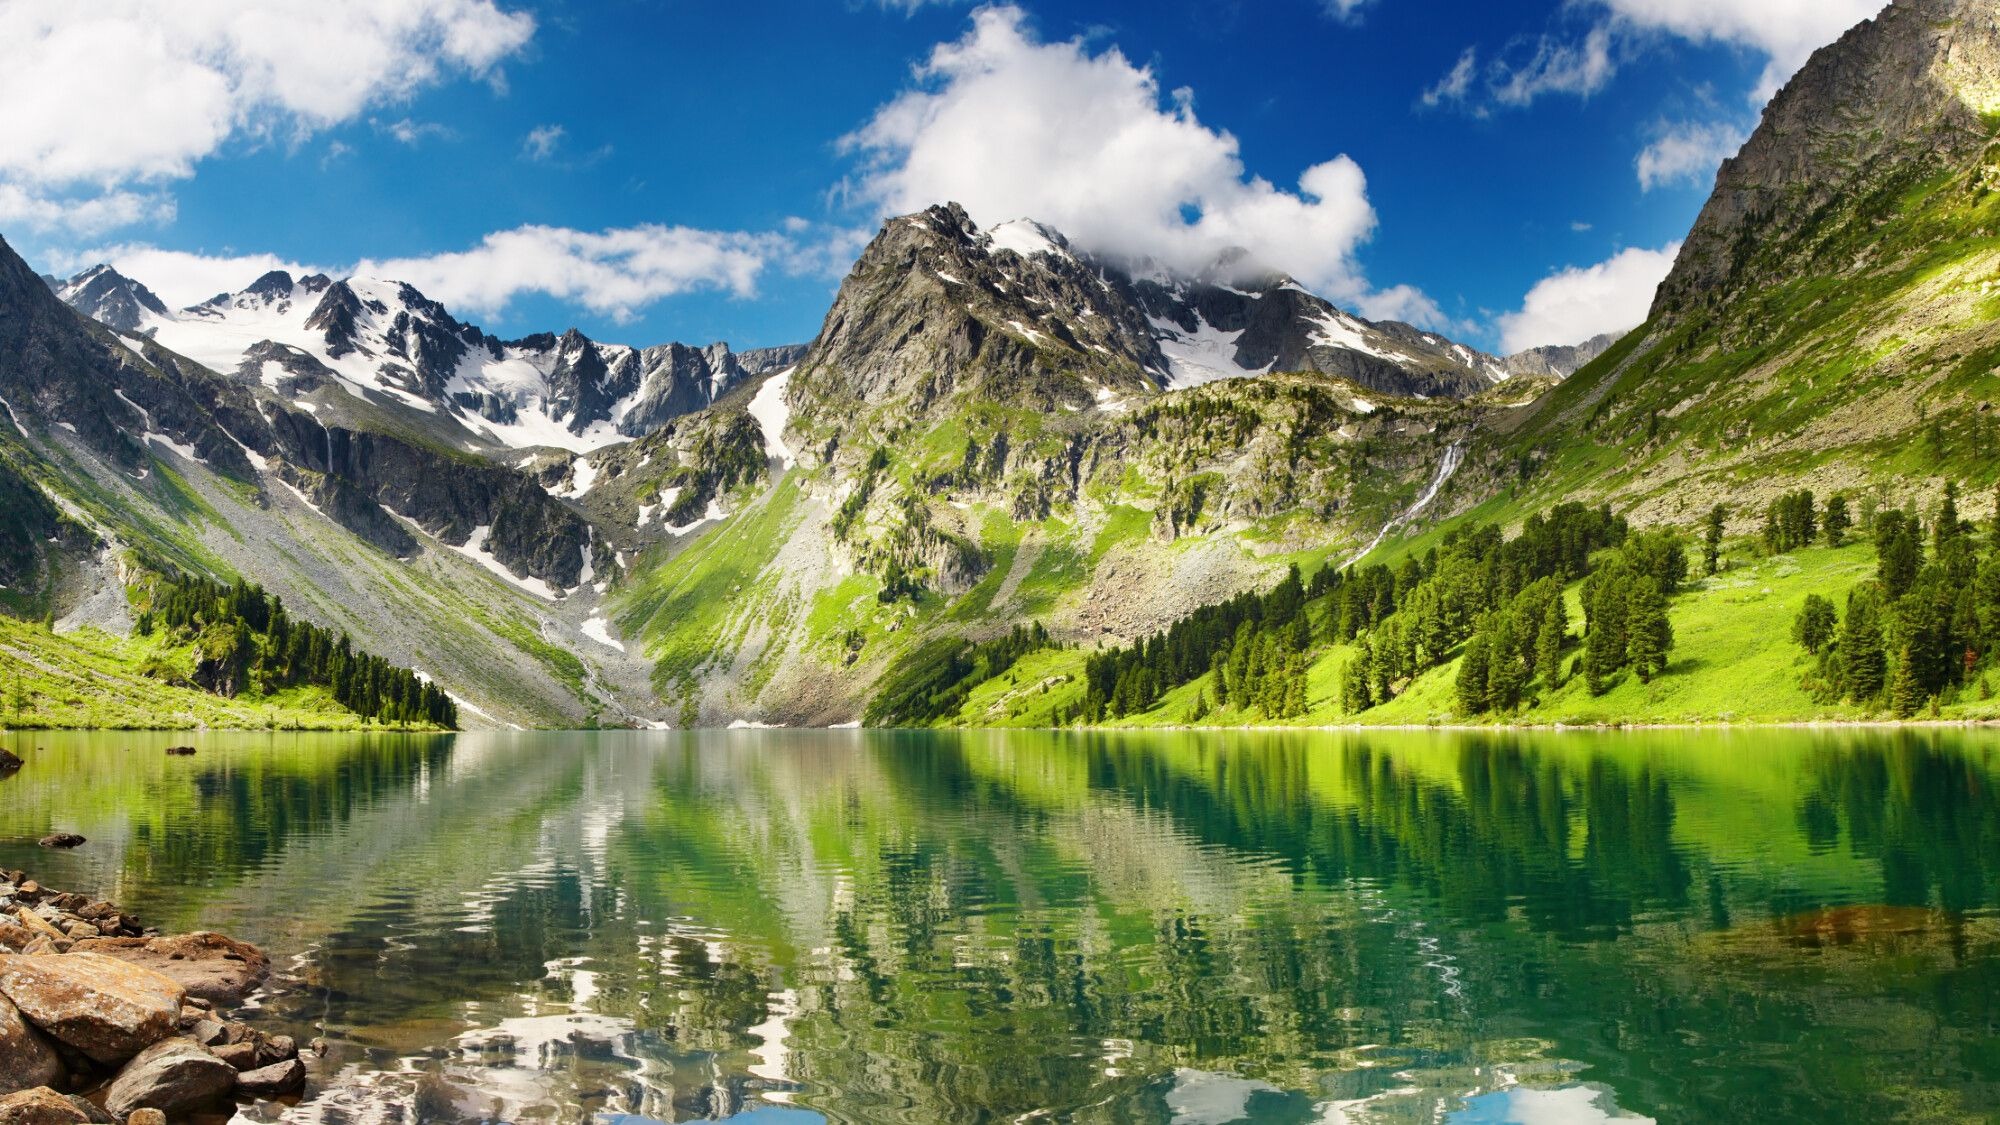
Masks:
[[[252,1121],[2000,1113],[1988,731],[0,745],[0,865],[274,953]]]

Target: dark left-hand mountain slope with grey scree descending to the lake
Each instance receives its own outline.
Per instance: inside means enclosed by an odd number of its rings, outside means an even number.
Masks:
[[[4,242],[0,356],[8,611],[130,635],[148,575],[242,577],[438,683],[466,723],[654,721],[646,663],[600,617],[636,544],[532,472],[120,336]],[[336,398],[356,400],[318,400]]]

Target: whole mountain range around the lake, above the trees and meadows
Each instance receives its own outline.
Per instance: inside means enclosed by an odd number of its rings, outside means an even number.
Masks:
[[[1928,510],[1996,464],[1996,42],[1906,0],[1824,48],[1644,326],[1514,356],[956,204],[746,352],[324,274],[174,310],[0,248],[4,601],[116,639],[140,575],[246,579],[468,723],[842,725],[946,649],[1132,645],[1566,500],[1732,540],[1800,486]],[[1348,717],[1340,661],[1306,715]]]

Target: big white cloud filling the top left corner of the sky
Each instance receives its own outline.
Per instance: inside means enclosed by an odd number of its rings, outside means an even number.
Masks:
[[[490,74],[532,32],[494,0],[8,0],[0,184],[90,208],[186,178],[232,138],[296,140]]]

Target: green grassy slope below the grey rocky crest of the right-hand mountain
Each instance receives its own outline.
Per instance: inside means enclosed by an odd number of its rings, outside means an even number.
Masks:
[[[1726,308],[1638,328],[1474,446],[1508,510],[1612,498],[1692,522],[1820,492],[2000,480],[2000,192],[1910,164],[1750,254]],[[1470,474],[1468,474],[1470,476]]]

